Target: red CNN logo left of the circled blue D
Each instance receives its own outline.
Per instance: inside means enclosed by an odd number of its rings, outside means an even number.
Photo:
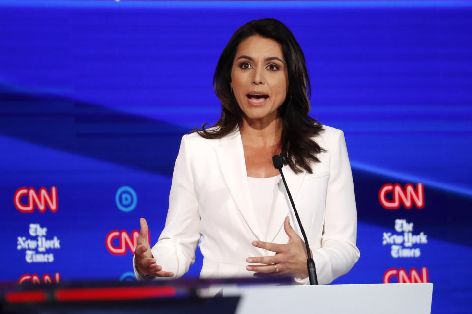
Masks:
[[[27,196],[28,203],[22,203],[23,196]],[[39,189],[39,193],[32,187],[20,187],[13,196],[13,203],[20,212],[28,213],[34,211],[34,206],[40,212],[46,211],[46,204],[52,212],[58,211],[58,188],[53,186],[50,192],[44,187]]]

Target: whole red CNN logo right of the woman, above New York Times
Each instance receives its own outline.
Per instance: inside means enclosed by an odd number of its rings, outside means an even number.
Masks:
[[[387,199],[387,194],[392,194],[392,200]],[[403,189],[400,184],[387,183],[379,190],[379,202],[385,209],[399,209],[400,203],[406,209],[411,209],[414,205],[418,209],[424,207],[424,186],[423,183],[416,184],[416,190],[413,185],[408,183]]]

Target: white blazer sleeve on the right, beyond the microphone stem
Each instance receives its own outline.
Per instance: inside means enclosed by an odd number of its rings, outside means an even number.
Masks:
[[[330,177],[321,247],[312,250],[318,284],[329,284],[346,274],[360,257],[356,247],[357,211],[353,176],[344,133],[336,131],[337,141],[329,145],[328,152],[331,156]],[[308,278],[297,281],[306,284]]]

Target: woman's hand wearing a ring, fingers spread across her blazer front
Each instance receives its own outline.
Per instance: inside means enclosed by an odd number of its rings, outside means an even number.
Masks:
[[[266,274],[291,274],[298,278],[308,277],[305,242],[296,234],[290,225],[289,217],[284,221],[285,233],[289,236],[287,244],[275,244],[254,241],[252,245],[275,252],[272,256],[249,257],[246,262],[265,264],[261,266],[246,266],[249,271],[255,271],[254,276]]]

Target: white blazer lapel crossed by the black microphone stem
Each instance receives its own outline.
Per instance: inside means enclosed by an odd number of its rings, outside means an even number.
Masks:
[[[294,199],[294,203],[296,206],[296,197],[298,195],[301,183],[303,182],[303,178],[305,177],[306,171],[303,170],[302,173],[296,174],[292,171],[292,169],[290,169],[288,165],[284,166],[282,168],[282,171],[284,172],[285,181],[287,182],[287,186],[289,187],[290,193],[292,195],[292,198]],[[285,232],[283,230],[281,231],[281,229],[284,228],[285,217],[290,215],[295,218],[295,214],[292,215],[292,204],[290,203],[289,196],[287,194],[287,191],[285,190],[285,185],[282,181],[282,177],[280,177],[276,193],[277,194],[275,198],[275,205],[272,209],[273,212],[270,215],[269,225],[267,227],[267,242],[273,242],[279,232]],[[298,225],[294,223],[292,224],[292,227],[295,231],[299,229]]]

